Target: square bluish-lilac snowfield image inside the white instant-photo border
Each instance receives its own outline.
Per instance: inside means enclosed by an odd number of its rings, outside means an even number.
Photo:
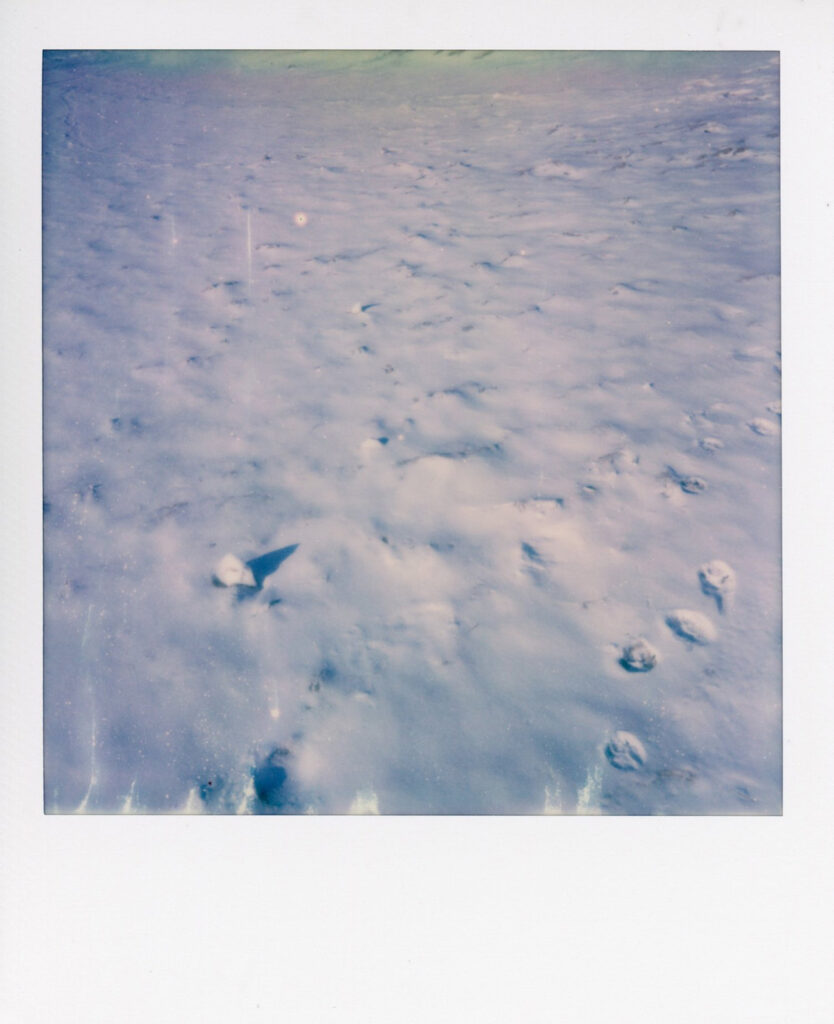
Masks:
[[[47,810],[778,813],[778,93],[47,53]]]

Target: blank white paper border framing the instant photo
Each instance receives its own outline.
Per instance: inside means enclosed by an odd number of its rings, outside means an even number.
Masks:
[[[3,5],[5,1019],[831,1019],[832,30],[828,0]],[[782,51],[784,817],[43,816],[41,50],[302,46]]]

